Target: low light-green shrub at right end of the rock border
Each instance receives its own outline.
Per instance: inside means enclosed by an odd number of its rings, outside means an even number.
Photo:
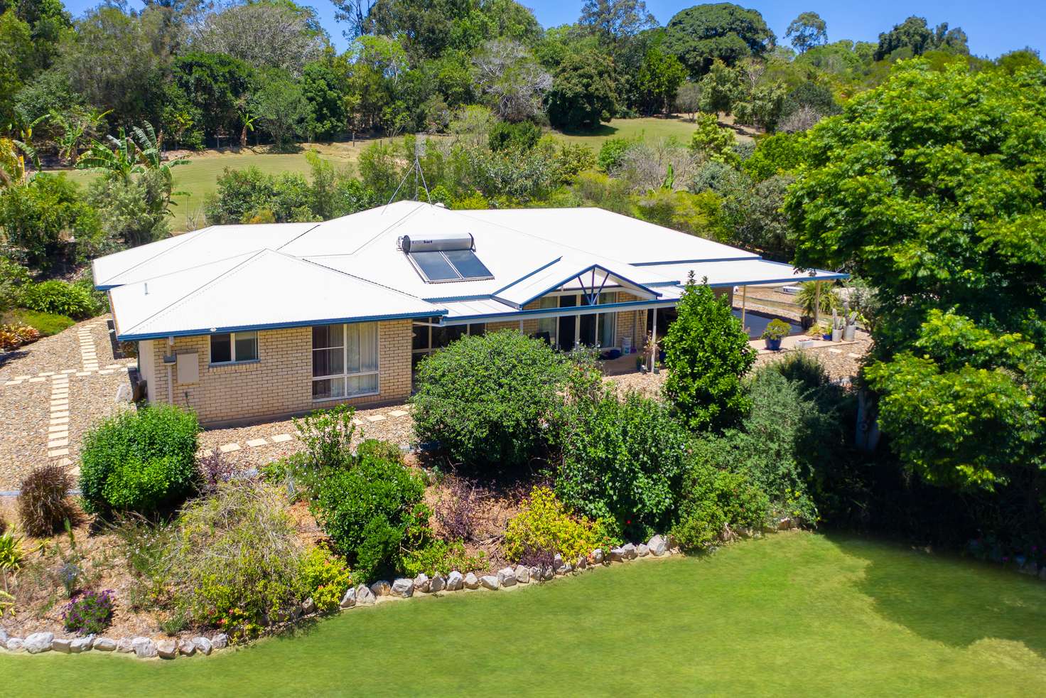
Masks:
[[[744,474],[698,464],[687,474],[679,520],[672,535],[684,549],[702,549],[728,528],[758,528],[767,519],[767,495]]]

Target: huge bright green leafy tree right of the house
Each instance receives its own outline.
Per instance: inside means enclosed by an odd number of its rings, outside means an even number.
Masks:
[[[787,198],[798,265],[878,287],[865,376],[894,449],[934,483],[1042,491],[1044,133],[1041,68],[902,63],[810,132]]]

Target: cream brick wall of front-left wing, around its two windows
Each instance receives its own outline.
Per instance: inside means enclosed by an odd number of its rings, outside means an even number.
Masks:
[[[153,342],[154,375],[146,377],[153,400],[167,402],[167,364],[163,356],[197,353],[200,380],[178,383],[178,367],[172,365],[174,403],[196,410],[200,422],[213,425],[308,412],[338,403],[374,405],[402,402],[410,396],[411,321],[380,322],[378,328],[379,393],[347,400],[314,402],[312,398],[312,328],[258,332],[258,360],[251,363],[211,366],[209,335],[176,337]]]

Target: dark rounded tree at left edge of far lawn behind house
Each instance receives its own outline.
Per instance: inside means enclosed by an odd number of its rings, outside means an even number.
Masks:
[[[571,55],[548,93],[548,119],[564,129],[594,129],[614,115],[614,66],[597,53]]]

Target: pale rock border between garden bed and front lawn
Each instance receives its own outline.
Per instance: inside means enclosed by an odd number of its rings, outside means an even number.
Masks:
[[[657,535],[646,543],[627,543],[610,550],[596,548],[587,556],[581,556],[573,562],[567,562],[556,555],[551,565],[516,565],[503,567],[493,575],[477,577],[475,572],[454,570],[446,577],[436,573],[429,577],[424,572],[413,579],[399,578],[392,582],[379,581],[373,584],[358,584],[350,587],[342,595],[339,608],[347,611],[353,608],[376,606],[380,603],[415,596],[442,594],[457,591],[497,591],[514,586],[543,583],[558,577],[578,575],[598,566],[610,566],[614,563],[631,562],[641,558],[664,558],[679,554],[679,547],[670,538]],[[303,618],[319,617],[316,604],[312,599],[301,603],[294,617],[283,618],[279,625],[288,625]],[[111,637],[87,635],[84,637],[55,637],[51,632],[37,632],[27,637],[10,637],[0,629],[0,649],[7,652],[26,652],[42,654],[58,652],[61,654],[82,654],[84,652],[111,652],[113,654],[130,654],[139,659],[176,659],[179,656],[209,656],[214,650],[229,647],[229,637],[225,633],[217,633],[210,637],[199,636],[188,638],[153,639],[151,637]]]

